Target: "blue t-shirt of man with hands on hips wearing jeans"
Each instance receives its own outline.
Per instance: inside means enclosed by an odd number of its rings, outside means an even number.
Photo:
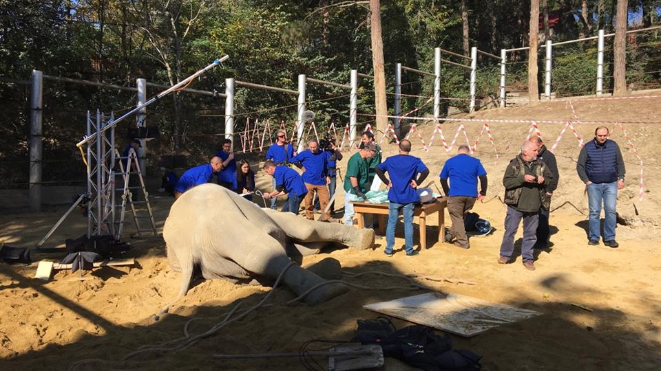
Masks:
[[[395,155],[388,157],[377,168],[388,172],[392,187],[388,191],[388,201],[394,203],[412,203],[420,201],[420,196],[411,187],[420,172],[427,170],[427,166],[418,157],[411,155]]]

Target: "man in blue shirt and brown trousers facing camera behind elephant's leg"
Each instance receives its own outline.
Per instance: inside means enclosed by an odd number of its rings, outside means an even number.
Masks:
[[[313,221],[315,214],[313,212],[313,198],[315,193],[319,198],[319,203],[321,204],[322,210],[326,210],[326,205],[328,205],[328,188],[326,185],[330,183],[330,177],[328,177],[328,158],[330,155],[326,151],[319,150],[319,142],[317,139],[311,139],[308,142],[308,149],[303,152],[295,155],[291,162],[296,165],[298,168],[303,169],[303,181],[305,186],[308,189],[308,193],[305,196],[305,217],[308,220]],[[322,221],[328,221],[330,215],[322,215]]]

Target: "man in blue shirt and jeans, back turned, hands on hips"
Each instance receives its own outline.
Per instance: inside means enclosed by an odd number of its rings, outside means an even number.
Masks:
[[[413,208],[420,201],[416,192],[418,184],[422,183],[429,169],[418,157],[409,155],[411,142],[403,139],[399,142],[399,155],[391,156],[377,166],[375,172],[384,184],[388,185],[388,227],[386,228],[386,256],[392,256],[395,246],[395,226],[399,219],[399,210],[404,216],[404,242],[406,256],[414,256],[418,251],[413,249]],[[390,180],[386,178],[388,172]],[[417,177],[417,179],[416,179]]]

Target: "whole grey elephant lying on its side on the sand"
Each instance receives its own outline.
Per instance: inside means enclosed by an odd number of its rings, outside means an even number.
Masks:
[[[186,295],[196,267],[207,279],[238,282],[257,276],[272,282],[291,262],[288,248],[295,247],[300,254],[308,255],[318,252],[323,243],[356,249],[374,245],[372,229],[308,221],[288,212],[262,209],[211,183],[187,190],[174,202],[163,237],[171,268],[182,272],[179,295]],[[289,267],[282,277],[297,295],[324,281],[298,265]],[[341,284],[327,284],[304,300],[314,305],[344,292],[346,287]]]

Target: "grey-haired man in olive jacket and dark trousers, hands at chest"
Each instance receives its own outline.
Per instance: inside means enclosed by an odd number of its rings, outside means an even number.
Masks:
[[[505,169],[503,186],[505,186],[505,234],[501,243],[499,264],[507,264],[514,252],[514,236],[518,224],[523,218],[523,243],[521,256],[523,267],[529,271],[535,270],[533,246],[537,241],[537,224],[539,209],[549,207],[546,188],[551,183],[553,175],[543,161],[537,159],[537,144],[525,142],[521,153],[514,157]]]

